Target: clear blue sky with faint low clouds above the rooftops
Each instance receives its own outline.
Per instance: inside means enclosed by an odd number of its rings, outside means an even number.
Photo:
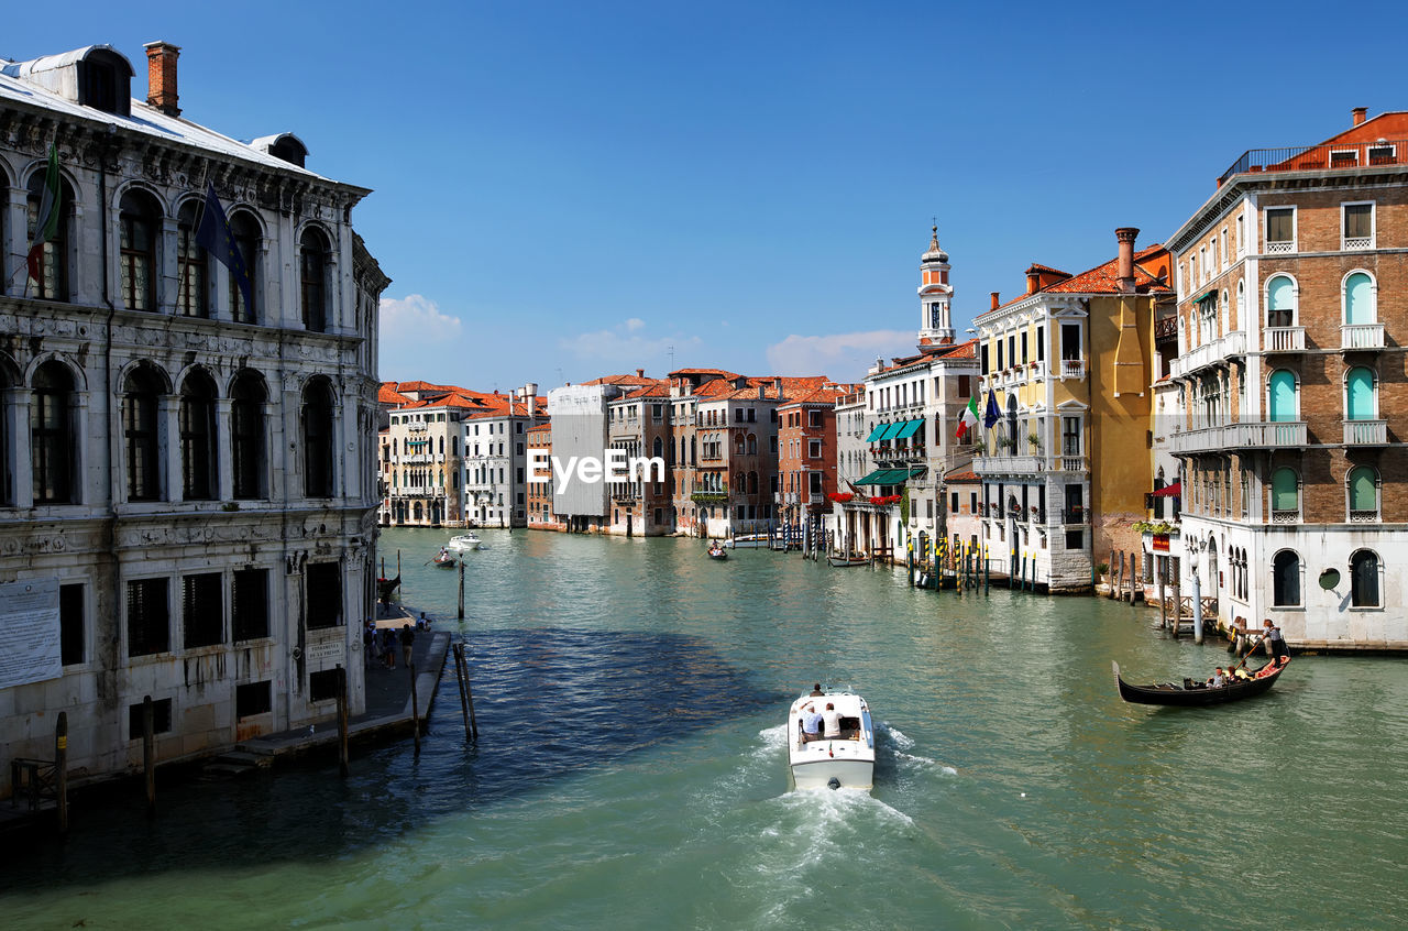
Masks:
[[[380,375],[859,380],[1042,262],[1162,241],[1247,148],[1408,107],[1397,3],[63,3],[0,55],[182,46],[183,115],[375,190]],[[1346,8],[1347,10],[1347,8]],[[1397,97],[1393,94],[1398,94]]]

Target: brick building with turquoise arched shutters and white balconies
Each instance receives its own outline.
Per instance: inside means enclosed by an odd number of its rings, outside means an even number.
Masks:
[[[1408,113],[1243,154],[1169,248],[1202,593],[1293,644],[1408,645]]]

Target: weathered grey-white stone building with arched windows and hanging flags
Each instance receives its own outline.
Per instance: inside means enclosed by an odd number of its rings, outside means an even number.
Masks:
[[[376,314],[389,283],[351,224],[369,192],[291,134],[179,118],[176,56],[146,101],[106,45],[0,61],[0,746],[73,776],[328,720],[338,666],[365,707],[375,600]],[[51,146],[59,224],[27,254]],[[207,183],[248,296],[197,245]],[[0,796],[10,792],[0,765]]]

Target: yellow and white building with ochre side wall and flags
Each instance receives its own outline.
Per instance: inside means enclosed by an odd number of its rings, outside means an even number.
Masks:
[[[1160,245],[1080,275],[1026,269],[1026,293],[979,315],[979,501],[994,572],[1052,592],[1090,589],[1111,549],[1138,552],[1146,517],[1155,307],[1171,303]],[[991,425],[986,425],[991,424]],[[1024,569],[1025,566],[1025,569]]]

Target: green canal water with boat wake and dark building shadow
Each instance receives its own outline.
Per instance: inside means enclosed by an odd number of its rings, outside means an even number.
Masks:
[[[1408,663],[1300,658],[1264,697],[1128,706],[1226,654],[1143,608],[905,587],[698,541],[390,531],[469,644],[410,742],[82,810],[0,858],[6,928],[1404,927]],[[788,792],[787,706],[866,696],[876,787]]]

